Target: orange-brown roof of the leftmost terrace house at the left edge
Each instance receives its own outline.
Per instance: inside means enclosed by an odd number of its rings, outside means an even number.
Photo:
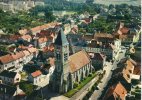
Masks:
[[[10,54],[0,57],[0,63],[2,63],[2,64],[7,64],[12,61],[14,61],[14,58]]]

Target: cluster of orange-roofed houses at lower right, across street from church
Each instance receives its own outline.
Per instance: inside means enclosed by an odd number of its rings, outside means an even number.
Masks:
[[[141,88],[141,66],[131,58],[124,58],[118,64],[118,68],[113,71],[111,83],[103,97],[103,100],[125,100],[139,98],[132,94],[134,87]]]

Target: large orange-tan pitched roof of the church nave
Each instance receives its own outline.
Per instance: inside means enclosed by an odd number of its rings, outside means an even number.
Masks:
[[[79,51],[69,57],[70,72],[73,73],[90,63],[90,58],[85,51]]]

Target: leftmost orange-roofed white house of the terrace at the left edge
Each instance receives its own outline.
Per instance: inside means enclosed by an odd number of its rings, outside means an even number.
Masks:
[[[11,54],[0,57],[0,71],[10,70],[15,68],[15,61]]]

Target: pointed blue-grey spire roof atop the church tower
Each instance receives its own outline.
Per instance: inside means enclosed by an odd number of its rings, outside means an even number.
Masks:
[[[55,45],[63,46],[68,44],[67,38],[63,32],[63,29],[60,29],[58,32],[58,36],[55,40]]]

